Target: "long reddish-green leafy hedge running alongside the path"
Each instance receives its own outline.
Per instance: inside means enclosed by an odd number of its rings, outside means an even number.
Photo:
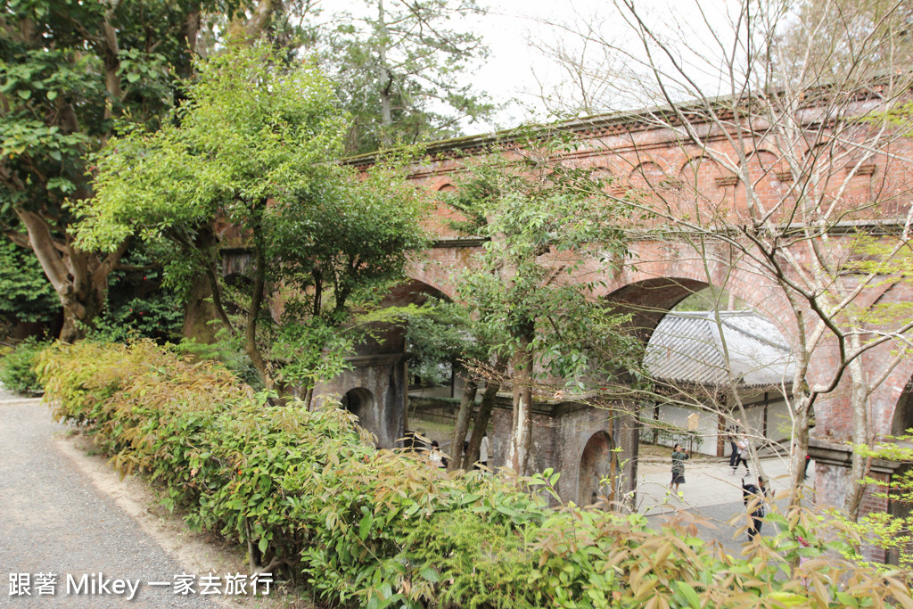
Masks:
[[[782,534],[743,559],[684,518],[656,531],[636,514],[549,509],[551,472],[448,475],[376,450],[341,409],[270,406],[152,342],[58,345],[38,374],[54,415],[86,426],[122,472],[162,485],[194,528],[247,544],[252,570],[280,569],[330,604],[913,607],[902,573],[840,558],[853,548],[823,541],[802,510],[771,514]]]

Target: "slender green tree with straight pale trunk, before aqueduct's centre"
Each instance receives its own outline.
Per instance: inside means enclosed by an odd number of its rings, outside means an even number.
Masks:
[[[532,150],[536,142],[527,143]],[[537,148],[469,167],[450,199],[467,216],[457,227],[488,238],[479,267],[460,278],[459,294],[490,334],[505,337],[493,351],[510,362],[508,462],[520,475],[530,466],[537,382],[561,379],[561,390],[582,392],[587,378],[637,367],[635,341],[620,327],[624,318],[593,306],[599,281],[590,279],[626,255],[618,226],[630,208],[618,202],[607,209],[599,197],[579,195],[577,183],[596,178],[553,163],[548,145]]]

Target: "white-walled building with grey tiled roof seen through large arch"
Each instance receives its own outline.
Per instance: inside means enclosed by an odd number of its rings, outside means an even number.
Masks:
[[[656,387],[652,444],[723,457],[726,437],[738,432],[759,449],[789,445],[794,360],[756,311],[671,310],[646,345],[644,365]]]

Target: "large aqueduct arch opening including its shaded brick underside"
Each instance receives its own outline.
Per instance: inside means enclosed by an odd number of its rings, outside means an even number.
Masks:
[[[788,446],[794,360],[771,320],[738,294],[688,278],[645,280],[611,300],[632,314],[653,382],[637,404],[638,455],[656,453],[664,468],[675,444],[728,457],[732,428],[762,451]]]

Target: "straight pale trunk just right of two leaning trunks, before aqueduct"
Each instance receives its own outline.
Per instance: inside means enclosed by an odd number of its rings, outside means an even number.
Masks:
[[[510,424],[508,464],[518,476],[526,476],[532,446],[532,352],[533,322],[520,329],[513,366],[513,416]]]

